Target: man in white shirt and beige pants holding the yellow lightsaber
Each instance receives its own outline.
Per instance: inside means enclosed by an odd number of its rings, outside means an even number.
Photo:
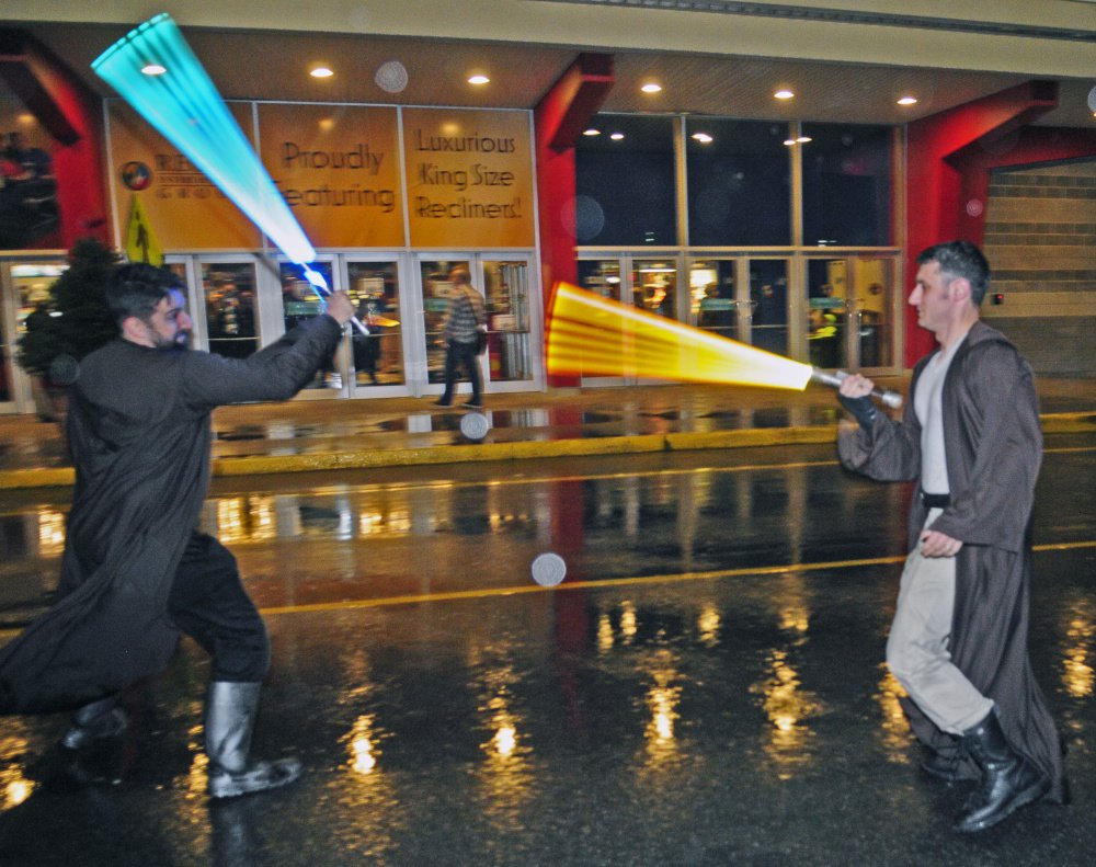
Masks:
[[[980,321],[982,252],[955,241],[917,263],[910,304],[939,346],[915,366],[901,423],[876,411],[871,380],[842,383],[859,426],[842,432],[838,454],[870,478],[920,482],[887,661],[933,751],[925,771],[980,780],[956,824],[974,832],[1043,796],[1065,797],[1058,732],[1027,651],[1042,433],[1030,366]]]

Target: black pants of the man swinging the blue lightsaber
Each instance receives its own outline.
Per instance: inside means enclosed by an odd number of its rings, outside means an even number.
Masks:
[[[236,558],[193,533],[168,597],[175,625],[213,657],[210,680],[256,683],[270,668],[266,627],[240,581]]]

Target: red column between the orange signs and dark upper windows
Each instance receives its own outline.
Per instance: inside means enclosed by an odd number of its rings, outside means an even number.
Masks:
[[[579,280],[574,259],[574,145],[605,101],[613,81],[612,55],[581,54],[533,112],[546,324],[551,286],[556,281]],[[549,377],[549,385],[575,386],[578,377]]]

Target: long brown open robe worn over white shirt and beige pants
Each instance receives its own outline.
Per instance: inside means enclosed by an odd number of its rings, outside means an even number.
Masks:
[[[939,350],[937,349],[937,352]],[[871,432],[838,437],[842,463],[882,481],[921,477],[921,423],[914,392],[928,360],[913,372],[902,422],[883,413]],[[977,322],[948,367],[941,396],[951,504],[933,529],[963,543],[956,562],[951,662],[993,699],[1014,748],[1051,780],[1062,801],[1065,779],[1058,731],[1031,672],[1027,651],[1031,566],[1030,523],[1042,459],[1042,431],[1031,368],[1001,332]],[[914,493],[909,541],[917,544],[927,510]],[[958,740],[903,700],[917,738],[943,754]],[[969,757],[963,776],[980,774]]]

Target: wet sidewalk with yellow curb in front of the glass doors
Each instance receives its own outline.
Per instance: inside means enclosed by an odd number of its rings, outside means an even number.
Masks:
[[[905,392],[905,379],[880,385]],[[1038,383],[1048,433],[1096,425],[1096,380]],[[604,455],[833,441],[843,417],[832,389],[644,385],[486,396],[482,437],[469,414],[434,397],[324,399],[222,407],[214,413],[214,474],[250,476],[469,460]],[[480,420],[477,420],[480,421]],[[66,486],[72,469],[60,426],[0,417],[0,490]]]

